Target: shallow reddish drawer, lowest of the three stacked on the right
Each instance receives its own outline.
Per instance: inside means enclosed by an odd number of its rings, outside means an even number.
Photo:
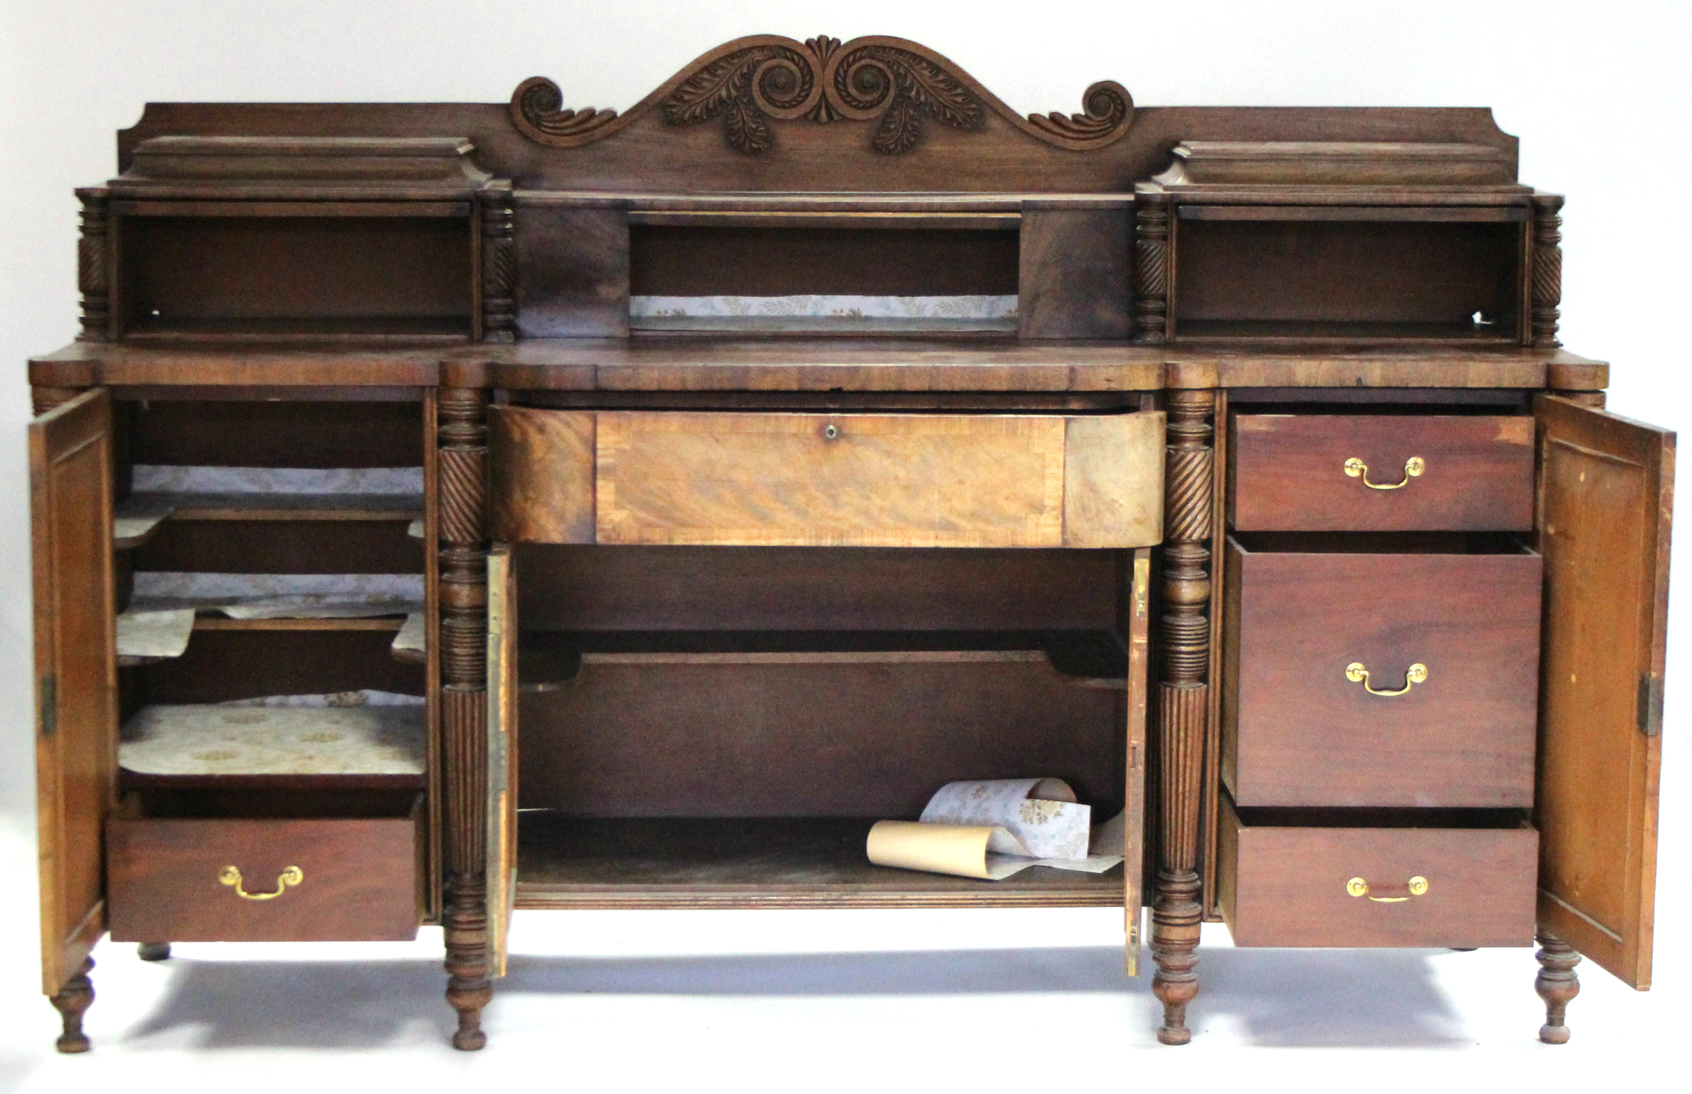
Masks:
[[[1235,945],[1530,945],[1540,834],[1245,825],[1223,805],[1217,888]]]

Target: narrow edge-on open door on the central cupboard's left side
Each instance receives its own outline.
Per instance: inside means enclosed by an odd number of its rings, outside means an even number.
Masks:
[[[518,587],[511,544],[487,553],[487,976],[506,974],[518,891]]]

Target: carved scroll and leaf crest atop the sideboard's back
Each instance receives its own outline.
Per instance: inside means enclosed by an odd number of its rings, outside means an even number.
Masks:
[[[922,140],[924,120],[961,130],[986,129],[997,113],[1022,132],[1061,149],[1103,147],[1129,130],[1134,98],[1118,83],[1086,90],[1083,113],[1024,118],[951,61],[897,37],[841,44],[778,36],[743,37],[699,57],[628,113],[563,110],[553,81],[535,76],[511,96],[511,120],[540,144],[570,149],[631,125],[658,110],[668,125],[721,118],[728,145],[758,156],[775,147],[772,122],[875,122],[870,149],[898,156]]]

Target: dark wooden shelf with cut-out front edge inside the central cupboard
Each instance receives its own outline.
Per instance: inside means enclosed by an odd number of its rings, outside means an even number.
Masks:
[[[1123,686],[1112,631],[526,631],[518,680],[541,692],[585,665],[814,665],[839,661],[1049,661],[1074,683]]]

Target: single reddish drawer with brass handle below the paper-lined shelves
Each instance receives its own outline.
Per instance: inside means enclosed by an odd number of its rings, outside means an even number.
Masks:
[[[421,798],[409,815],[107,820],[118,942],[387,942],[421,922]],[[240,872],[239,884],[228,867]],[[284,884],[289,867],[298,881]],[[276,893],[279,896],[242,898]]]

